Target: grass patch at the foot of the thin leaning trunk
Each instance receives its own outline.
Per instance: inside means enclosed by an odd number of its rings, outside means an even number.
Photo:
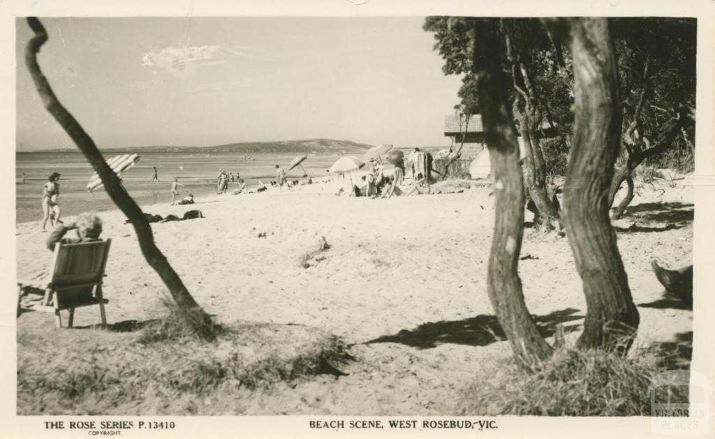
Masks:
[[[176,319],[21,332],[18,414],[240,414],[235,400],[252,390],[335,375],[352,358],[342,340],[303,325],[235,323],[202,342]]]

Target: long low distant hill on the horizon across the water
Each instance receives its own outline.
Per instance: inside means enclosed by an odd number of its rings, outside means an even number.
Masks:
[[[105,148],[102,152],[240,152],[243,154],[256,152],[334,152],[334,153],[363,153],[372,145],[350,142],[349,140],[334,139],[307,139],[285,140],[280,142],[239,142],[217,145],[215,147],[127,147]],[[78,149],[45,149],[39,152],[79,152]]]

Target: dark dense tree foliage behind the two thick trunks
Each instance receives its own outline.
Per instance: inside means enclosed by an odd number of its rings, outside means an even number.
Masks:
[[[470,24],[474,20],[433,16],[423,26],[435,34],[434,48],[445,60],[443,72],[464,75],[458,97],[472,114],[480,112],[469,57],[474,33]],[[499,45],[502,69],[511,84],[508,99],[514,102],[522,137],[530,139],[527,152],[533,164],[530,159],[525,164],[526,185],[538,196],[538,210],[546,209],[551,215],[551,206],[541,191],[546,175],[566,173],[573,134],[570,49],[554,37],[559,29],[547,29],[537,19],[500,22],[500,38],[495,44]],[[609,26],[623,97],[621,159],[611,184],[611,204],[623,182],[629,189],[616,208],[617,217],[633,197],[633,174],[642,162],[684,171],[694,167],[696,20],[625,17],[609,19]],[[526,132],[522,124],[528,125]]]

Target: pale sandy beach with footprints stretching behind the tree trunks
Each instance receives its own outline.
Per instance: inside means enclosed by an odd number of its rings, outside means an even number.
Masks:
[[[692,311],[659,305],[664,289],[650,268],[651,260],[691,264],[692,183],[687,177],[676,183],[641,184],[628,214],[614,222],[641,315],[638,346],[691,337]],[[511,355],[494,329],[486,293],[494,217],[488,185],[367,199],[336,197],[335,184],[143,207],[162,216],[204,214],[152,229],[217,321],[317,327],[345,340],[357,359],[344,368],[350,375],[278,383],[253,390],[240,408],[205,413],[454,414],[454,392],[473,380],[475,368]],[[102,218],[102,237],[112,238],[104,292],[109,322],[164,315],[168,292],[144,261],[132,226],[119,211]],[[48,234],[40,228],[39,222],[16,227],[19,278],[49,265]],[[322,238],[330,248],[315,252]],[[568,240],[526,229],[521,259],[524,295],[537,321],[547,328],[561,322],[576,330],[569,337],[577,335],[586,301]],[[96,310],[77,311],[75,325],[97,322]],[[52,331],[52,315],[19,317],[19,334]]]

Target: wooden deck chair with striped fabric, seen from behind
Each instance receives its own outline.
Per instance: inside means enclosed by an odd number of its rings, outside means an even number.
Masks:
[[[49,275],[41,283],[18,281],[19,298],[24,287],[32,286],[44,290],[44,300],[37,305],[22,306],[18,301],[18,315],[21,311],[54,312],[57,327],[62,327],[61,310],[69,310],[68,327],[72,327],[75,308],[99,305],[102,325],[107,325],[102,296],[104,267],[107,265],[109,245],[112,240],[60,244],[54,246]]]

